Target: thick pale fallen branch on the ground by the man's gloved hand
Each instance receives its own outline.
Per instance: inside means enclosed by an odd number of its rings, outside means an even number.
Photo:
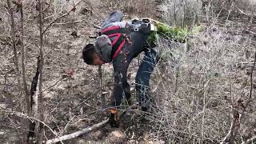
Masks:
[[[68,140],[68,139],[72,139],[72,138],[76,138],[82,134],[86,134],[92,130],[96,130],[102,126],[105,126],[106,123],[109,122],[109,119],[106,119],[105,121],[103,122],[99,122],[97,124],[95,124],[94,126],[90,126],[90,127],[87,127],[87,128],[84,128],[82,130],[78,130],[72,134],[67,134],[67,135],[63,135],[62,137],[60,138],[54,138],[54,139],[50,139],[48,141],[46,141],[46,144],[50,144],[50,143],[55,143],[55,142],[60,142],[60,141],[65,141],[65,140]]]

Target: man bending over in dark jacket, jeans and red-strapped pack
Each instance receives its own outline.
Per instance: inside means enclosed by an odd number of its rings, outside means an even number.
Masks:
[[[102,25],[101,36],[94,44],[84,47],[82,58],[89,65],[102,65],[112,62],[114,67],[114,92],[111,105],[118,109],[125,97],[130,101],[130,85],[127,82],[127,69],[130,62],[138,54],[144,52],[145,56],[135,78],[136,92],[139,105],[142,110],[149,110],[150,105],[148,90],[150,74],[158,62],[156,50],[147,44],[147,38],[152,33],[153,25],[148,22],[138,20],[122,22],[123,14],[115,11],[110,14],[110,18]],[[118,126],[114,118],[117,110],[110,110],[110,125]]]

